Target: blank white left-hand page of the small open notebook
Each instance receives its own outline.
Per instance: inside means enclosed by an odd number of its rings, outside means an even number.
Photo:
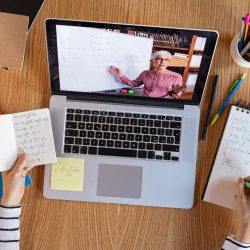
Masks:
[[[0,172],[12,168],[17,158],[11,115],[0,115]]]

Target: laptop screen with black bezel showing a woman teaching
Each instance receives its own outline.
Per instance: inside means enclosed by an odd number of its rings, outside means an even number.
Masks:
[[[47,20],[53,94],[200,103],[218,33]]]

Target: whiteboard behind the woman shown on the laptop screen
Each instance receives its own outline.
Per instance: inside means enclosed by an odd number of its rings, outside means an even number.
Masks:
[[[125,87],[109,66],[129,79],[148,70],[153,39],[97,28],[56,26],[60,88],[95,92]]]

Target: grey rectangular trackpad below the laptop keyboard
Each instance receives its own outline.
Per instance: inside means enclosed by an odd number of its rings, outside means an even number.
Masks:
[[[142,167],[100,164],[97,195],[139,199],[141,182]]]

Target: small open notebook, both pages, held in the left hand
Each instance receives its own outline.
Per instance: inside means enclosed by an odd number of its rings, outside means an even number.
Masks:
[[[28,154],[30,166],[56,161],[48,109],[0,116],[0,171],[9,170],[19,152]]]

